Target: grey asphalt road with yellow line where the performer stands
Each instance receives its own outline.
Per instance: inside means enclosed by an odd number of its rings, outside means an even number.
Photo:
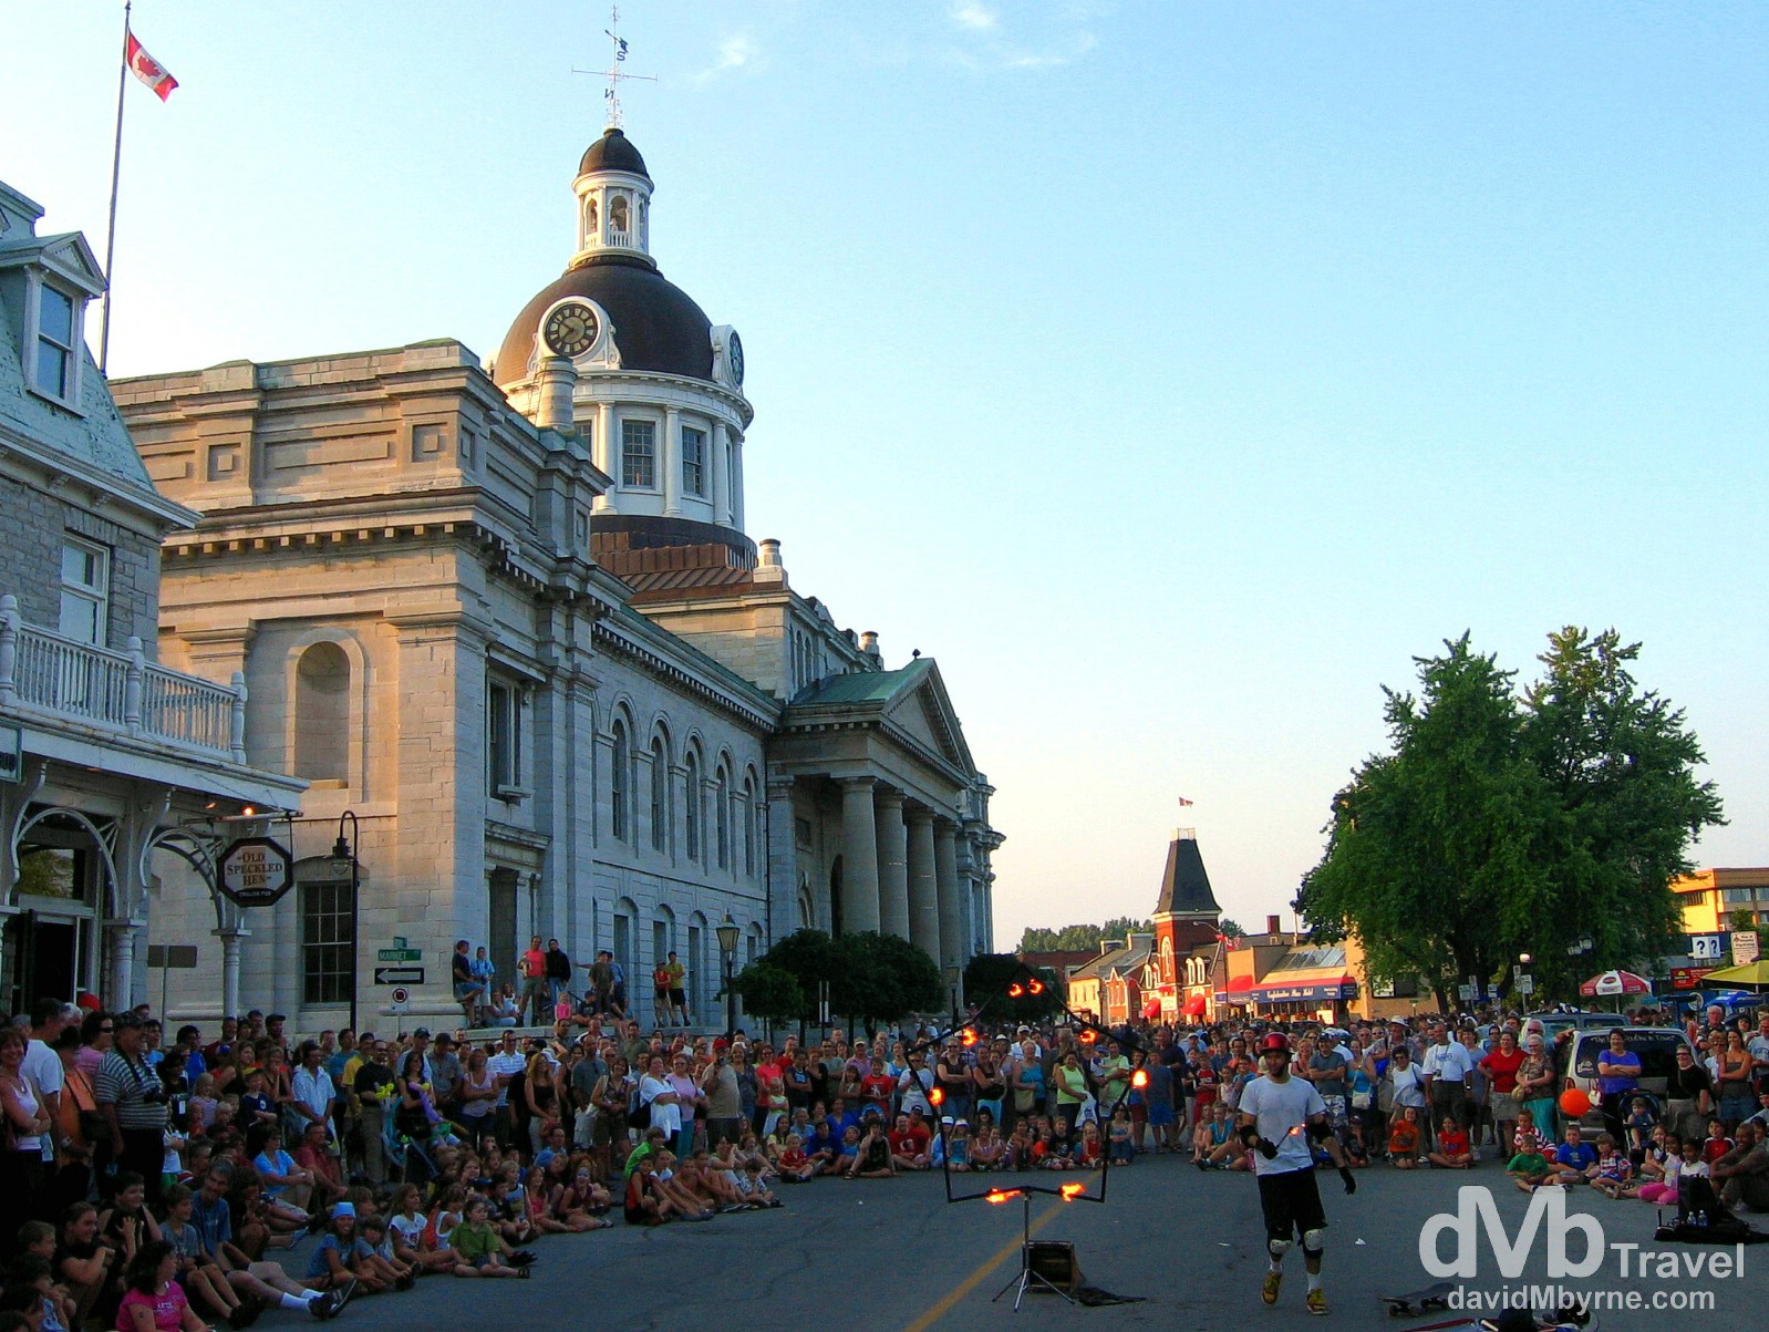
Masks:
[[[955,1176],[961,1189],[987,1183],[1012,1187],[1030,1180],[1053,1185],[1081,1175]],[[858,1332],[907,1328],[1037,1328],[1076,1320],[1100,1328],[1291,1328],[1357,1327],[1401,1332],[1452,1318],[1431,1313],[1390,1320],[1380,1295],[1413,1291],[1438,1277],[1421,1265],[1419,1240],[1428,1219],[1456,1212],[1458,1189],[1491,1185],[1493,1210],[1504,1235],[1516,1236],[1530,1199],[1488,1162],[1470,1173],[1389,1167],[1359,1171],[1359,1192],[1346,1198],[1337,1176],[1318,1176],[1330,1222],[1325,1288],[1330,1314],[1307,1314],[1300,1254],[1286,1263],[1283,1297],[1275,1309],[1260,1304],[1265,1272],[1258,1194],[1244,1175],[1201,1175],[1173,1157],[1143,1157],[1113,1175],[1107,1201],[1060,1203],[1035,1198],[1035,1238],[1076,1245],[1088,1284],[1139,1304],[1074,1309],[1054,1295],[1030,1295],[1012,1313],[1012,1293],[991,1297],[1019,1270],[1021,1203],[984,1201],[948,1205],[938,1175],[899,1180],[819,1180],[784,1192],[785,1208],[722,1215],[711,1222],[672,1224],[660,1229],[614,1229],[541,1240],[531,1281],[467,1282],[426,1277],[403,1295],[364,1298],[340,1320],[373,1323],[377,1332],[437,1332],[453,1327],[617,1327],[617,1328],[724,1328],[755,1327],[766,1318],[778,1327],[835,1325]],[[1099,1178],[1088,1176],[1099,1189]],[[1652,1245],[1654,1208],[1638,1201],[1610,1201],[1578,1189],[1569,1212],[1589,1213],[1603,1226],[1608,1245]],[[1548,1222],[1525,1247],[1527,1268],[1518,1281],[1500,1275],[1493,1245],[1479,1231],[1472,1247],[1477,1275],[1459,1282],[1468,1291],[1520,1290],[1548,1281]],[[1769,1229],[1769,1226],[1765,1226]],[[311,1242],[310,1242],[311,1244]],[[1675,1251],[1681,1275],[1668,1279],[1620,1275],[1613,1249],[1599,1272],[1558,1282],[1567,1288],[1626,1295],[1640,1300],[1677,1300],[1712,1295],[1712,1313],[1666,1309],[1604,1309],[1596,1316],[1603,1332],[1661,1332],[1712,1325],[1714,1313],[1735,1327],[1755,1325],[1769,1304],[1769,1245],[1744,1251],[1744,1275],[1689,1277],[1693,1256],[1734,1249],[1663,1245]],[[1456,1238],[1438,1245],[1454,1258]],[[1583,1240],[1569,1240],[1573,1259]],[[299,1272],[306,1245],[290,1261]],[[1658,1259],[1659,1263],[1663,1259]],[[1638,1254],[1627,1254],[1629,1272]],[[573,1321],[578,1316],[582,1321]],[[743,1320],[732,1323],[732,1318]],[[545,1323],[536,1323],[543,1318]],[[561,1318],[564,1321],[561,1321]],[[265,1314],[262,1327],[295,1321],[294,1314]]]

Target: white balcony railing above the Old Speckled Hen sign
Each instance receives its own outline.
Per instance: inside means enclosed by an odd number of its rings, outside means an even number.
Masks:
[[[246,762],[246,677],[232,688],[154,665],[140,639],[113,653],[25,624],[0,596],[0,708],[34,708]]]

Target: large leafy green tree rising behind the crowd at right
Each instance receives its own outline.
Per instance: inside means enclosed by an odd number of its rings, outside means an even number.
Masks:
[[[1647,964],[1675,930],[1670,881],[1721,821],[1684,715],[1638,690],[1638,646],[1613,632],[1551,635],[1521,695],[1467,633],[1444,647],[1415,658],[1417,697],[1383,690],[1390,748],[1336,794],[1297,909],[1444,1007],[1467,976],[1509,985],[1520,953],[1562,996],[1581,971]]]

